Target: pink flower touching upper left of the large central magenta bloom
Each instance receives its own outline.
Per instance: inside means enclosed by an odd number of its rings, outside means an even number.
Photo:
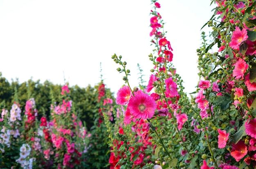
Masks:
[[[118,90],[116,102],[120,105],[126,105],[131,96],[132,91],[130,90],[129,86],[124,86]]]

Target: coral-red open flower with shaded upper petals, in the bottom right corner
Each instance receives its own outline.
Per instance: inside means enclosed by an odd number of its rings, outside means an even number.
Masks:
[[[243,140],[238,141],[236,144],[232,144],[231,156],[235,158],[238,162],[240,161],[246,154],[248,150]]]

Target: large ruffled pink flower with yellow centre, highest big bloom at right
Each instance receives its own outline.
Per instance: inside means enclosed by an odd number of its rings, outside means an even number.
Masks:
[[[240,28],[236,26],[236,31],[233,32],[229,46],[232,49],[239,50],[240,44],[245,40],[247,40],[247,38],[248,38],[248,35],[247,35],[246,29],[243,28],[241,31]]]

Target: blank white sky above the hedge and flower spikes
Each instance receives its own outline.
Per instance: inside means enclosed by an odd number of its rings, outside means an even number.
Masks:
[[[174,66],[185,90],[193,92],[200,28],[215,6],[210,0],[158,2]],[[99,83],[101,62],[104,82],[116,93],[124,84],[111,59],[116,53],[128,63],[131,86],[138,86],[137,63],[145,81],[153,68],[151,7],[150,0],[0,0],[0,72],[9,82],[32,77],[54,84],[64,84],[64,72],[71,86],[86,87]]]

